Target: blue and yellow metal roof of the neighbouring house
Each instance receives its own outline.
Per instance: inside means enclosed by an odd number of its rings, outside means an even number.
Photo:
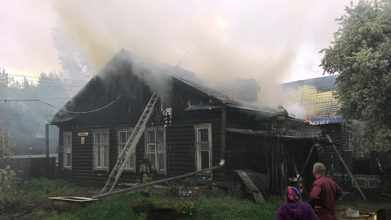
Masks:
[[[305,108],[306,117],[314,124],[340,123],[339,102],[333,96],[339,75],[305,79],[279,85],[279,98],[284,105],[298,104]]]

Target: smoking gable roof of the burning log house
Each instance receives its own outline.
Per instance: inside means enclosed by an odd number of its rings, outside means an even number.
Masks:
[[[252,103],[248,103],[245,101],[238,100],[234,97],[231,97],[224,92],[221,92],[215,88],[211,88],[208,85],[206,85],[201,79],[197,78],[194,72],[182,69],[181,67],[177,66],[174,67],[172,65],[161,63],[159,61],[151,60],[149,58],[144,58],[141,56],[137,56],[136,54],[131,53],[129,50],[121,49],[111,60],[124,60],[125,62],[133,65],[136,63],[146,63],[149,66],[152,66],[154,70],[157,70],[160,72],[160,74],[166,74],[168,76],[171,76],[174,79],[177,79],[181,83],[185,83],[186,85],[200,91],[204,95],[210,97],[213,101],[217,101],[218,104],[222,106],[232,107],[232,108],[239,108],[243,110],[252,110],[252,111],[258,111],[258,112],[275,112],[274,108],[268,108],[265,106],[255,105]],[[106,67],[106,66],[105,66]],[[104,68],[105,68],[104,67]],[[100,71],[104,74],[104,68]],[[89,84],[91,84],[91,79],[87,85],[84,86],[88,87]],[[83,93],[83,89],[80,90],[74,97],[81,96]],[[72,111],[71,101],[66,103],[63,108],[63,110]],[[73,119],[74,117],[70,117],[71,114],[68,114],[66,112],[63,112],[59,110],[52,119],[49,120],[49,123],[57,123],[61,121],[68,121],[70,119]],[[66,118],[66,119],[65,119]],[[70,118],[70,119],[68,119]]]

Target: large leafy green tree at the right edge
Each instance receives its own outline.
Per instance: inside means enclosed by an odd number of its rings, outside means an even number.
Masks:
[[[391,1],[350,3],[332,46],[322,49],[324,74],[339,73],[335,96],[346,119],[364,121],[369,146],[391,149]]]

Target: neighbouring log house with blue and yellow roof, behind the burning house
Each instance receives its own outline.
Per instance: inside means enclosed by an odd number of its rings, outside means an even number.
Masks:
[[[314,129],[308,130],[308,136],[325,138],[328,134],[332,141],[338,144],[341,155],[344,155],[344,150],[348,150],[352,151],[353,157],[363,157],[363,150],[357,143],[357,132],[343,115],[338,114],[340,103],[333,96],[337,89],[335,80],[338,76],[330,75],[280,84],[279,97],[283,105],[287,106],[288,112],[289,106],[301,106],[305,109],[305,117],[314,125]],[[319,145],[319,149],[321,147]],[[341,160],[330,147],[319,152],[319,162],[323,162],[334,173],[342,172]]]

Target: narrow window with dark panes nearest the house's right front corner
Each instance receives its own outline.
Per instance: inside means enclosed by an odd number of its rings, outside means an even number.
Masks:
[[[194,130],[197,170],[210,168],[212,165],[212,125],[196,125]]]

